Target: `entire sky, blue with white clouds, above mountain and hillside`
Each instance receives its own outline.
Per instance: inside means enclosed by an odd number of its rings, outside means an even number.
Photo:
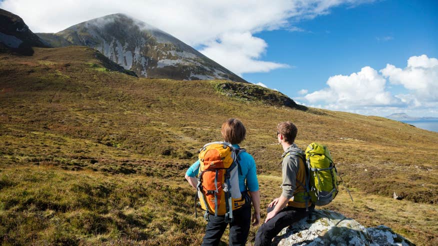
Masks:
[[[0,0],[33,32],[125,13],[300,104],[438,117],[437,0]]]

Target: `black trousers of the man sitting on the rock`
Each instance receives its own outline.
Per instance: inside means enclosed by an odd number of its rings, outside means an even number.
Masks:
[[[280,210],[273,218],[262,224],[255,235],[254,246],[271,245],[274,238],[284,227],[292,225],[294,222],[306,217],[314,209],[315,205],[305,208],[286,206]],[[273,207],[268,207],[267,212],[272,211]]]

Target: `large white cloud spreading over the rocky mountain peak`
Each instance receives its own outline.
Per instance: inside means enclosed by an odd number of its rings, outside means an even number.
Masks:
[[[328,14],[332,7],[372,0],[3,0],[33,32],[57,32],[79,22],[125,13],[179,38],[231,71],[266,72],[286,64],[262,60],[262,30],[298,30],[290,24]],[[229,51],[231,45],[237,45]],[[244,65],[243,65],[244,64]]]

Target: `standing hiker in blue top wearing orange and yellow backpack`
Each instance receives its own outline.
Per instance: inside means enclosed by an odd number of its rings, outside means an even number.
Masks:
[[[208,221],[202,245],[218,245],[227,224],[229,245],[245,245],[251,220],[253,226],[260,221],[255,161],[238,145],[246,134],[240,120],[226,120],[221,133],[224,142],[205,144],[199,150],[199,159],[187,169],[185,178],[196,189],[196,197]]]

